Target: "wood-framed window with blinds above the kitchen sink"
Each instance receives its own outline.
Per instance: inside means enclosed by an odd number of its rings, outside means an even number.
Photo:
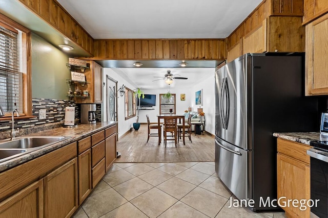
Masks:
[[[29,30],[0,14],[0,105],[10,116],[32,114]]]

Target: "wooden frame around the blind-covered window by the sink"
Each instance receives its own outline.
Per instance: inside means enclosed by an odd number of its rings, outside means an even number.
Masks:
[[[9,19],[5,15],[0,13],[0,25],[13,31],[22,32],[22,102],[23,113],[19,114],[19,118],[29,118],[32,116],[32,87],[31,87],[31,31],[27,28],[19,25],[15,21]],[[11,112],[6,112],[6,115],[1,117],[2,119],[11,118]]]

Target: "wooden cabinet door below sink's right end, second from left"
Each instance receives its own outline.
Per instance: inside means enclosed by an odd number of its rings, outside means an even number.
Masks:
[[[74,158],[45,177],[45,216],[70,217],[77,207],[77,158]]]

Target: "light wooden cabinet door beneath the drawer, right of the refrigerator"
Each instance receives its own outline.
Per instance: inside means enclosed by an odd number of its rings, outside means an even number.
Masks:
[[[277,154],[278,198],[310,199],[310,166],[288,156]],[[310,207],[283,207],[288,217],[310,217]]]

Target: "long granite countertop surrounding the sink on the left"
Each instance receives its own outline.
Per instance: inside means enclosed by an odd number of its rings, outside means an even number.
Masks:
[[[0,162],[0,172],[5,171],[5,170],[7,170],[11,167],[14,167],[16,165],[19,165],[21,163],[32,160],[36,157],[47,154],[58,148],[64,147],[69,143],[72,143],[74,141],[85,138],[85,137],[92,135],[93,133],[98,132],[100,130],[107,129],[108,127],[113,126],[115,124],[117,124],[117,122],[113,122],[113,121],[101,122],[101,123],[96,123],[96,124],[92,124],[92,125],[80,124],[74,128],[59,127],[59,128],[54,128],[51,130],[40,131],[37,133],[24,135],[24,136],[66,136],[67,138],[64,140],[61,140],[59,142],[50,144],[47,147],[36,149],[34,151],[31,151],[29,153],[9,159],[7,161]]]

